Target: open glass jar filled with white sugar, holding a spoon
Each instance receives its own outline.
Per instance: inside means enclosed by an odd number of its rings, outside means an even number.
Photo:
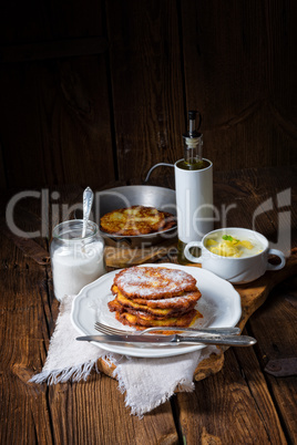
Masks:
[[[53,291],[61,301],[65,294],[76,294],[90,282],[106,272],[104,241],[99,227],[88,221],[82,238],[83,220],[73,219],[54,227],[50,248]]]

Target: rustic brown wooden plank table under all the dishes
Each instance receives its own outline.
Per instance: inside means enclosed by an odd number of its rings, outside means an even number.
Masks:
[[[28,383],[44,364],[59,312],[47,234],[81,193],[78,186],[37,190],[31,198],[13,192],[16,226],[42,231],[31,240],[7,229],[8,197],[1,197],[0,443],[296,443],[296,269],[249,318],[245,333],[257,339],[255,346],[227,350],[221,372],[142,420],[130,414],[117,382],[103,373],[79,383]],[[254,227],[286,255],[296,248],[296,201],[294,167],[215,174],[217,225]]]

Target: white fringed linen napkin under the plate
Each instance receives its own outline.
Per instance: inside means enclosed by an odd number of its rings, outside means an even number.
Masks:
[[[65,296],[60,304],[57,325],[50,341],[47,361],[32,383],[63,383],[72,379],[86,380],[100,358],[105,358],[116,369],[114,376],[125,395],[131,414],[143,416],[166,402],[176,389],[193,391],[193,375],[198,363],[216,353],[215,346],[164,359],[139,359],[106,352],[88,342],[79,342],[70,314],[74,297]]]

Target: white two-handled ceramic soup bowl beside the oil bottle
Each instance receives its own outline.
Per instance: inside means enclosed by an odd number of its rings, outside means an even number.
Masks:
[[[213,253],[206,247],[208,239],[222,239],[223,235],[229,235],[239,240],[249,240],[260,246],[259,252],[252,256],[243,257],[224,257]],[[201,248],[201,257],[194,257],[190,249],[192,247]],[[206,234],[201,241],[188,242],[185,247],[185,257],[191,262],[201,263],[204,269],[207,269],[221,278],[236,284],[250,282],[262,277],[266,270],[279,270],[286,265],[284,253],[277,249],[269,249],[269,242],[262,234],[238,227],[229,227],[224,229],[213,230]],[[280,263],[272,265],[268,262],[268,257],[275,255],[280,259]]]

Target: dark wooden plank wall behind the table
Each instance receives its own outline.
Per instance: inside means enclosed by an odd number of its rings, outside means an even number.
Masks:
[[[144,178],[188,108],[217,170],[296,163],[296,0],[3,4],[1,188]]]

